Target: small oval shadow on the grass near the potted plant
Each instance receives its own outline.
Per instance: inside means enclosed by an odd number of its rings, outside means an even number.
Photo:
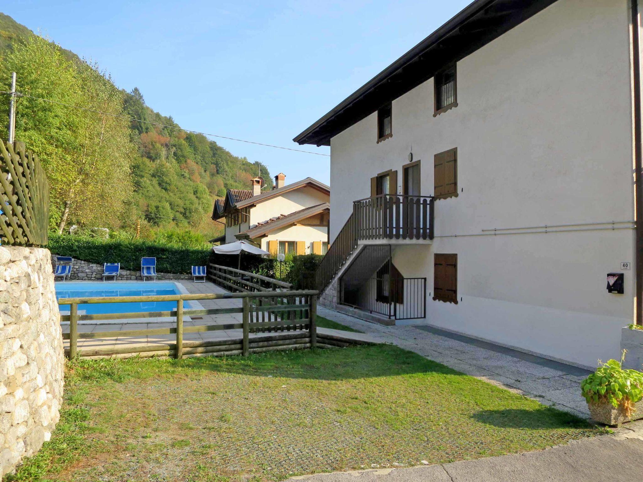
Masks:
[[[583,429],[591,426],[583,418],[552,407],[536,410],[482,410],[471,415],[471,418],[483,424],[505,429]]]

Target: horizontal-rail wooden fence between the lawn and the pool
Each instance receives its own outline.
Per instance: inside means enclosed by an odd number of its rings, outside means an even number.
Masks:
[[[60,317],[61,321],[69,321],[69,333],[63,334],[63,339],[69,340],[66,354],[70,359],[77,356],[109,356],[140,353],[143,356],[174,356],[184,355],[228,354],[248,355],[249,353],[269,350],[291,350],[294,348],[316,348],[317,343],[317,296],[315,290],[300,291],[264,291],[241,293],[213,294],[174,294],[158,296],[113,296],[96,298],[60,298],[59,305],[69,305],[69,315]],[[206,310],[184,309],[184,301],[205,299],[242,299],[242,306],[235,308],[210,308]],[[176,310],[147,313],[118,313],[118,314],[78,314],[78,305],[96,303],[141,303],[154,301],[176,301]],[[203,316],[217,314],[242,314],[241,323],[226,323],[220,325],[183,326],[185,316]],[[145,319],[150,317],[176,317],[176,325],[170,328],[148,328],[145,330],[120,330],[107,332],[78,332],[78,321],[98,321],[105,319]],[[218,330],[242,330],[241,339],[185,341],[186,333],[211,332]],[[284,337],[286,331],[305,330],[308,333],[293,334]],[[281,332],[266,339],[250,338],[250,333]],[[78,350],[78,339],[100,339],[114,337],[137,337],[143,335],[176,335],[175,344],[154,344],[151,346],[116,346],[109,348],[93,348]],[[337,346],[332,341],[324,347]]]

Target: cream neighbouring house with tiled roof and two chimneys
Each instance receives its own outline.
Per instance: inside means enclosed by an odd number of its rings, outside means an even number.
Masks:
[[[285,175],[275,176],[273,190],[262,191],[262,180],[251,180],[252,189],[228,189],[217,199],[212,219],[225,224],[227,244],[247,240],[265,251],[325,254],[328,249],[331,188],[307,177],[285,185]]]

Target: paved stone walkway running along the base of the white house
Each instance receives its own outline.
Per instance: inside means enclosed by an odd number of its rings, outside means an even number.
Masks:
[[[396,344],[472,377],[535,398],[541,404],[584,418],[590,416],[580,389],[581,380],[589,373],[586,370],[478,343],[426,325],[383,326],[324,307],[318,307],[318,314],[361,330],[375,341]]]

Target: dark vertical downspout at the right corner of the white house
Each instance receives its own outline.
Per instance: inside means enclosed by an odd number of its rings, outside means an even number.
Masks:
[[[640,39],[638,22],[638,0],[631,0],[632,8],[632,70],[634,102],[634,181],[635,181],[635,217],[636,227],[636,314],[635,323],[643,325],[643,159],[641,155],[641,93],[640,93]]]

